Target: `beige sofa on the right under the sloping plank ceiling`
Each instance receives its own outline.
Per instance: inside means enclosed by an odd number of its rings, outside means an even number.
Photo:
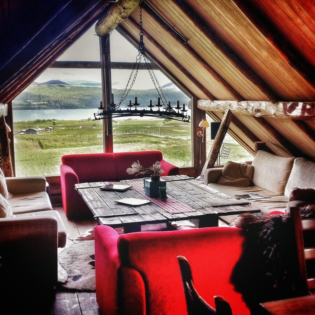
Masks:
[[[223,168],[206,169],[204,184],[234,198],[235,195],[248,193],[270,197],[249,201],[261,209],[263,215],[274,210],[285,211],[294,187],[315,188],[315,163],[305,158],[278,157],[265,151],[258,151],[252,166],[254,173],[251,186],[218,184]]]

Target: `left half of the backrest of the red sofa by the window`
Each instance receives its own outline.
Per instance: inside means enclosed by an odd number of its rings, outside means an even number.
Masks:
[[[72,167],[80,183],[117,180],[114,153],[68,154],[61,162]]]

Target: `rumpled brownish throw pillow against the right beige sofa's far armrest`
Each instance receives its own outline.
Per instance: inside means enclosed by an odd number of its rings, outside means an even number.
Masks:
[[[227,161],[223,167],[218,184],[230,186],[249,186],[252,181],[254,167]]]

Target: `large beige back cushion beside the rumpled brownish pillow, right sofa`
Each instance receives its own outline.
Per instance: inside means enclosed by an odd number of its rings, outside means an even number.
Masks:
[[[274,154],[258,151],[254,166],[253,185],[284,195],[295,157],[278,157]]]

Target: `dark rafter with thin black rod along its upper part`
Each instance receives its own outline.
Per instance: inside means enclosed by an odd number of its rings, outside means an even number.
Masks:
[[[215,78],[236,100],[241,101],[244,98],[228,83],[226,80],[221,77],[221,75],[215,71],[213,67],[211,67],[206,60],[204,60],[191,46],[189,43],[184,43],[183,38],[179,36],[174,29],[170,27],[161,17],[154,11],[150,6],[146,3],[143,3],[143,9],[150,15],[150,17],[156,21],[161,28],[167,31],[176,41],[181,45],[181,48],[185,51],[188,51],[195,60],[198,61],[200,66],[205,68],[212,77]]]

